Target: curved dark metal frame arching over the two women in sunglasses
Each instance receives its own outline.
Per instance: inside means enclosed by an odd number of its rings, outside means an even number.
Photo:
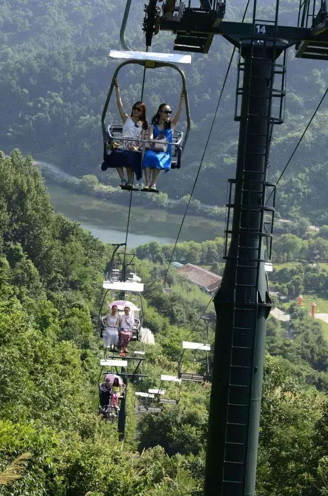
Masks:
[[[114,88],[114,81],[117,78],[117,74],[120,71],[120,69],[128,64],[138,64],[142,67],[149,66],[147,64],[147,61],[140,61],[140,60],[126,60],[122,62],[116,69],[112,78],[111,85],[109,87],[108,95],[106,98],[105,106],[103,109],[103,113],[101,113],[101,128],[103,130],[103,140],[106,141],[106,124],[105,124],[105,119],[106,119],[106,113],[108,110],[109,102],[112,96],[113,88]],[[186,104],[186,116],[187,116],[187,131],[185,134],[185,139],[183,139],[181,148],[185,148],[186,143],[188,141],[188,136],[190,132],[190,127],[191,127],[191,120],[190,120],[190,109],[189,109],[189,101],[188,101],[188,93],[187,93],[187,84],[186,84],[186,76],[185,73],[175,64],[172,64],[170,62],[153,62],[152,66],[150,68],[161,68],[161,67],[171,67],[172,69],[175,69],[176,71],[179,72],[182,80],[182,91],[183,94],[185,95],[185,104]]]

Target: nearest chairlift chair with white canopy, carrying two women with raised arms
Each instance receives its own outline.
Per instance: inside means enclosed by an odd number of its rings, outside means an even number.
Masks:
[[[103,109],[103,113],[101,114],[101,128],[103,130],[103,140],[104,140],[104,161],[106,161],[106,156],[111,152],[111,146],[113,143],[118,144],[121,147],[131,147],[136,146],[139,147],[139,151],[136,153],[141,154],[141,161],[144,157],[146,144],[154,143],[156,140],[150,141],[149,139],[139,140],[135,139],[133,136],[122,136],[122,124],[110,124],[106,127],[106,113],[108,110],[109,102],[112,96],[114,81],[117,78],[117,74],[120,69],[127,64],[138,64],[142,67],[148,69],[161,68],[161,67],[171,67],[177,70],[182,79],[182,91],[185,95],[185,103],[186,103],[186,116],[187,116],[187,130],[185,135],[183,135],[182,131],[174,130],[172,142],[168,143],[172,145],[172,160],[171,160],[171,168],[179,169],[181,166],[181,156],[183,153],[183,149],[185,148],[189,131],[191,127],[191,119],[190,119],[190,111],[189,111],[189,102],[188,102],[188,93],[186,86],[186,77],[183,71],[176,64],[190,64],[191,56],[190,55],[181,55],[181,54],[171,54],[171,53],[155,53],[155,52],[138,52],[138,51],[125,51],[125,50],[110,50],[110,58],[112,59],[124,59],[115,70],[112,82],[108,91],[107,99],[105,102],[105,106]],[[147,138],[147,137],[146,137]],[[160,141],[158,141],[160,143]],[[116,145],[117,146],[117,145]],[[149,189],[141,189],[141,183],[139,187],[127,187],[121,186],[122,189],[133,189],[136,191],[144,190],[151,193],[158,193],[158,190],[149,190]]]

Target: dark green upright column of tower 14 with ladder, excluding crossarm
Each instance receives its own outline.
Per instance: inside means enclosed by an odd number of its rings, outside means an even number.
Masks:
[[[272,230],[268,234],[264,228],[264,215],[271,216],[271,225],[274,217],[274,207],[265,205],[267,187],[271,186],[267,183],[267,167],[272,126],[282,122],[285,67],[277,65],[276,59],[286,43],[276,36],[266,40],[257,37],[259,21],[254,4],[252,37],[241,40],[239,51],[235,115],[240,121],[239,145],[236,179],[230,180],[226,225],[226,247],[229,240],[230,247],[225,254],[222,283],[214,298],[217,322],[207,496],[255,494],[266,319],[272,306],[264,271],[264,262],[270,259],[270,253],[264,258],[265,239],[272,236]],[[276,15],[271,21],[276,30],[278,9],[277,0]],[[279,90],[274,88],[277,73],[282,75]],[[278,116],[273,115],[274,98],[279,100]]]

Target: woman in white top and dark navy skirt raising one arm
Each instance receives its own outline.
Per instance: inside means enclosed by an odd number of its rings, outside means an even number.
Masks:
[[[126,143],[115,148],[109,155],[104,155],[104,162],[101,164],[101,170],[107,170],[109,167],[115,167],[120,177],[120,186],[132,187],[133,172],[136,179],[141,179],[141,151],[138,150],[139,139],[145,139],[148,124],[146,120],[146,104],[136,102],[129,116],[123,108],[119,92],[117,79],[114,80],[116,90],[116,102],[119,115],[123,123],[123,136],[131,138]],[[127,169],[128,181],[124,177],[123,167]]]

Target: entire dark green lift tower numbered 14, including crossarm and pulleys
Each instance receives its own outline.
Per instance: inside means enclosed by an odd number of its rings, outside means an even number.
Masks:
[[[226,0],[200,0],[198,8],[177,0],[176,10],[165,0],[162,13],[157,0],[149,0],[144,20],[148,46],[159,26],[176,34],[177,50],[207,53],[215,34],[239,48],[241,105],[239,111],[236,102],[235,112],[235,120],[240,121],[239,145],[236,178],[229,180],[227,262],[214,299],[217,325],[206,496],[255,494],[266,319],[271,308],[264,263],[271,258],[274,220],[275,187],[267,182],[272,128],[283,122],[286,49],[295,45],[297,57],[328,60],[325,0],[319,7],[316,0],[300,0],[297,27],[278,25],[279,0],[272,20],[259,19],[260,0],[253,1],[252,23],[223,21]],[[268,10],[265,3],[261,7],[262,12]],[[282,53],[284,60],[278,65]],[[279,89],[274,87],[275,76],[281,80]],[[267,188],[273,188],[272,206],[265,205]]]

